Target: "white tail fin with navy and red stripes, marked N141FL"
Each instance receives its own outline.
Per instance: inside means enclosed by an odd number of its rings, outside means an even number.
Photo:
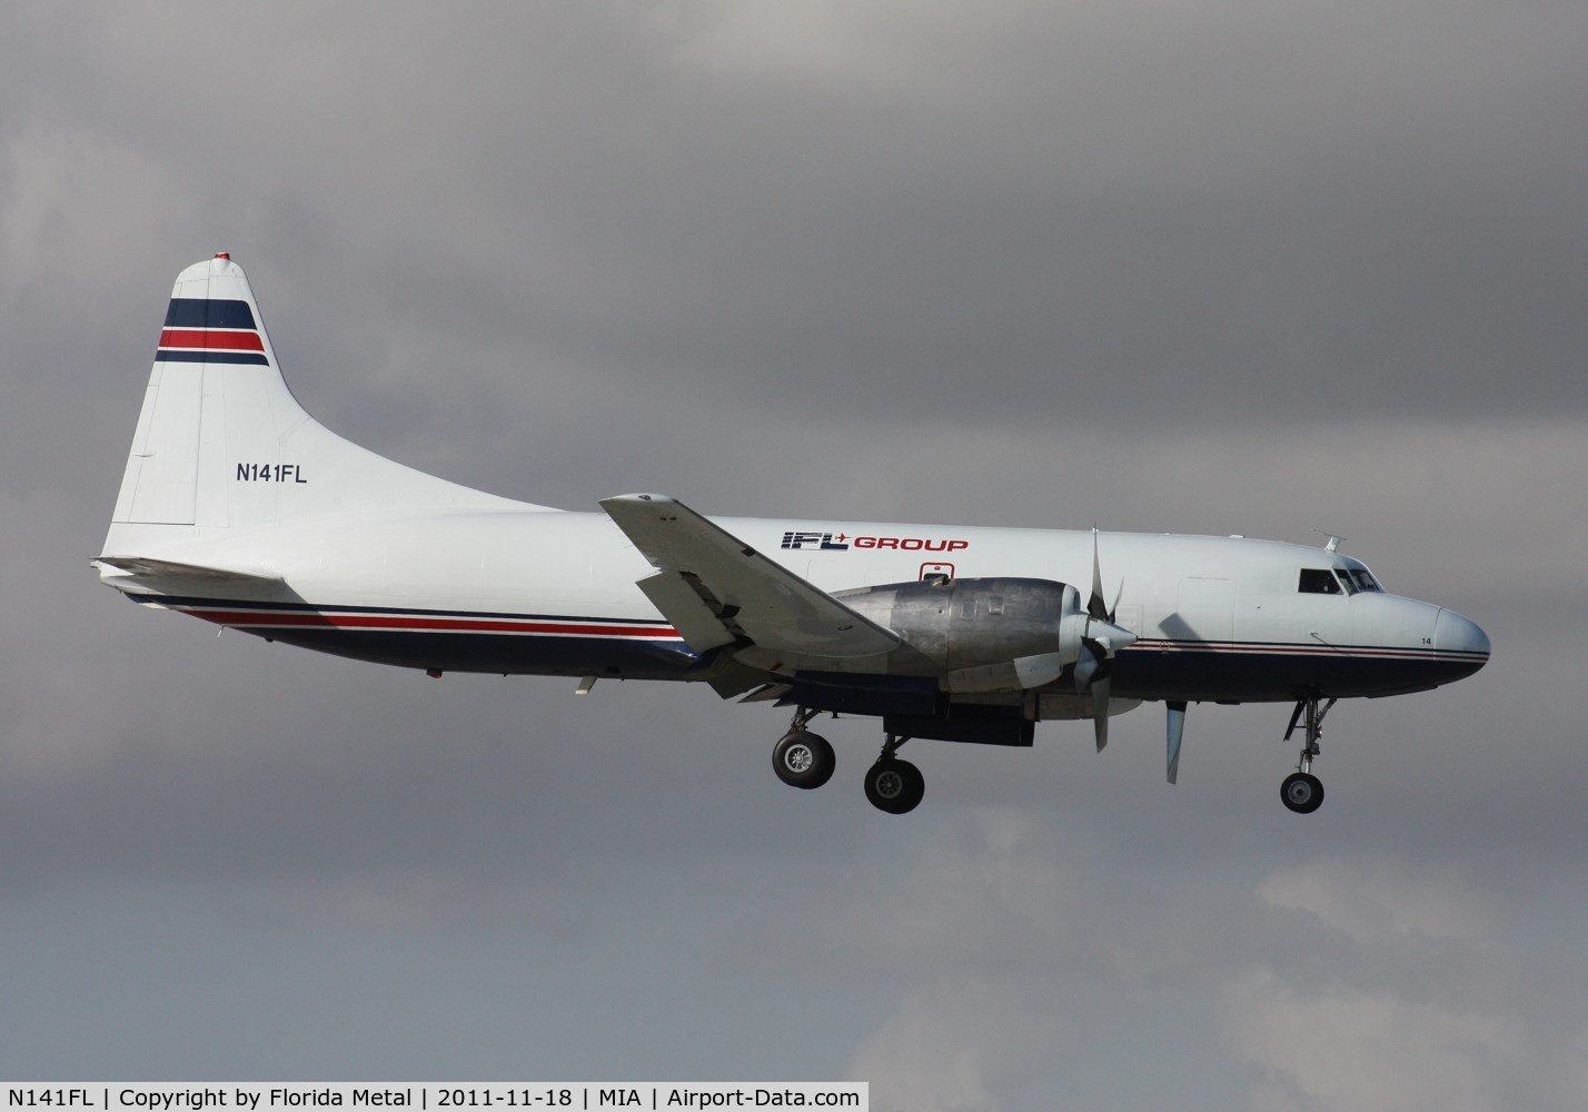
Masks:
[[[292,397],[243,268],[176,276],[106,554],[302,518],[397,508],[546,508],[448,483],[343,440]]]

